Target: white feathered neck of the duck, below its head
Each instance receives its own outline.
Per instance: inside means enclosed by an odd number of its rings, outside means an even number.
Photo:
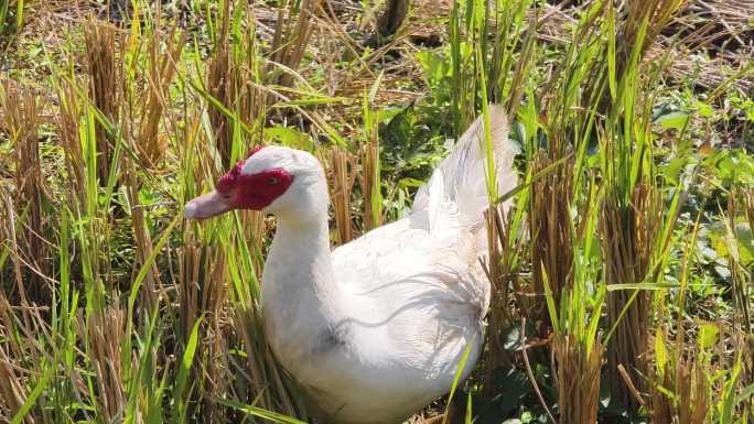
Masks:
[[[266,327],[278,339],[273,348],[302,355],[301,349],[342,317],[342,293],[330,251],[326,188],[310,198],[319,204],[309,208],[305,219],[299,214],[278,214],[262,275]]]

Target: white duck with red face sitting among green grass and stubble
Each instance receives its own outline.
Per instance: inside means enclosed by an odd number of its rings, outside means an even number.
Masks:
[[[515,185],[516,148],[491,109],[500,192]],[[395,424],[448,393],[464,350],[465,379],[483,341],[489,283],[488,205],[477,119],[417,193],[406,218],[330,249],[327,186],[317,160],[255,149],[185,206],[203,219],[236,208],[277,217],[262,275],[274,355],[326,423]]]

